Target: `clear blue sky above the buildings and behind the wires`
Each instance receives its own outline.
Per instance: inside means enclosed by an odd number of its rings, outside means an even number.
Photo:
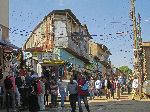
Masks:
[[[136,0],[143,41],[150,41],[150,0]],[[130,0],[10,0],[10,41],[21,47],[36,25],[52,10],[71,9],[86,24],[95,42],[108,47],[116,67],[133,68],[133,26]],[[122,32],[122,34],[120,34]]]

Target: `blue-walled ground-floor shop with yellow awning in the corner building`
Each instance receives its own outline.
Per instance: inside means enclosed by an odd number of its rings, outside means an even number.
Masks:
[[[32,52],[31,54],[32,60],[37,61],[33,64],[33,68],[39,77],[44,74],[49,79],[52,76],[56,78],[63,76],[64,79],[68,80],[73,75],[77,79],[78,73],[85,70],[85,63],[64,49],[55,48],[53,53]]]

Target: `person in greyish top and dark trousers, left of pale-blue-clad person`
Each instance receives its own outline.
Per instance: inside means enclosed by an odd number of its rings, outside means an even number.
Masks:
[[[58,85],[55,80],[50,83],[50,93],[51,93],[51,106],[57,107],[57,97],[58,97]]]

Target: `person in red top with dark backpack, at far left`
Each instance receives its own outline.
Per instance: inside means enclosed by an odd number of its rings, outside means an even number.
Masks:
[[[4,80],[4,86],[6,90],[6,104],[7,107],[9,107],[11,103],[12,111],[15,110],[15,92],[16,92],[16,84],[15,84],[15,77],[13,76],[12,71],[9,71],[9,75],[6,76],[6,79]],[[8,96],[8,94],[10,96]],[[9,100],[11,98],[11,101]]]

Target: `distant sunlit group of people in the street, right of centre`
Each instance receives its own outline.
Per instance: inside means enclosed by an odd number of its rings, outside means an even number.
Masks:
[[[116,98],[120,98],[120,89],[121,89],[121,83],[119,80],[116,79],[96,79],[94,80],[92,77],[89,81],[89,92],[90,92],[90,99],[94,99],[95,96],[100,97],[102,94],[106,96],[107,99],[115,98],[114,93],[116,93]]]

